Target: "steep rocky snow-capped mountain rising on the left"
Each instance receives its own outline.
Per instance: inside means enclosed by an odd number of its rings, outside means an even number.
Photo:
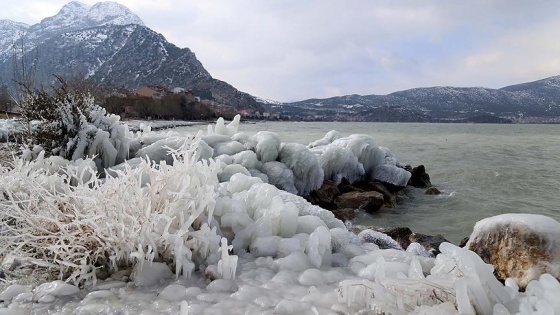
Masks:
[[[0,34],[0,84],[13,82],[12,47],[23,35],[25,57],[37,57],[36,80],[45,85],[62,75],[127,89],[183,87],[218,103],[260,109],[249,94],[212,78],[190,49],[167,42],[115,2],[73,1],[32,26],[2,20]]]

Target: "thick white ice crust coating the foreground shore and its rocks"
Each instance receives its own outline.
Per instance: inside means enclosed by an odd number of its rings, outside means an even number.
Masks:
[[[326,152],[358,170],[345,175],[356,179],[379,166],[400,169],[370,137],[330,132],[309,149],[281,144],[270,133],[241,134],[238,123],[218,121],[208,134],[183,141],[137,134],[131,143],[138,158],[104,180],[92,176],[92,160],[72,164],[40,153],[0,167],[2,253],[33,253],[21,244],[50,250],[64,264],[49,255],[30,261],[74,271],[69,280],[80,284],[7,281],[0,284],[0,314],[560,314],[560,284],[551,275],[521,293],[512,279],[498,282],[492,266],[467,249],[442,243],[435,258],[418,244],[404,251],[385,234],[348,231],[332,212],[295,194],[345,171],[322,160]],[[258,152],[261,141],[278,148],[276,157]],[[244,150],[235,152],[238,144]],[[60,204],[68,206],[62,210],[70,211],[69,222],[57,221]],[[40,218],[32,215],[36,209],[44,211]],[[7,218],[27,225],[16,233]],[[45,218],[59,224],[49,234],[54,243],[104,243],[84,255],[77,246],[45,249],[33,236]],[[538,223],[543,232],[557,228],[548,219]],[[114,260],[110,278],[96,279],[95,257]]]

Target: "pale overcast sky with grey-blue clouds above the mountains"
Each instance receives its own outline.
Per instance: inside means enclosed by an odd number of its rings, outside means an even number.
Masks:
[[[0,0],[0,19],[38,23],[67,2]],[[279,101],[560,75],[557,0],[117,2],[213,77]]]

